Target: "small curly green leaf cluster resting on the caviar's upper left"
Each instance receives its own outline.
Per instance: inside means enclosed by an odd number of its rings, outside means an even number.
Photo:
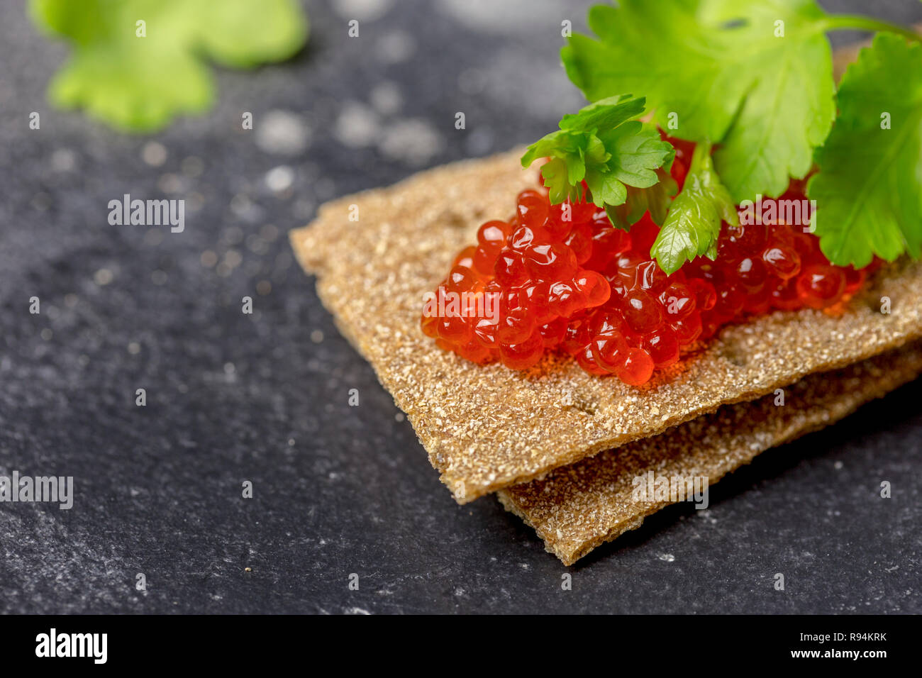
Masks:
[[[655,129],[634,119],[643,115],[644,102],[621,95],[564,115],[559,131],[528,147],[522,166],[550,158],[541,175],[555,205],[580,199],[584,180],[597,207],[624,204],[628,187],[656,184],[656,170],[671,162],[675,152]]]

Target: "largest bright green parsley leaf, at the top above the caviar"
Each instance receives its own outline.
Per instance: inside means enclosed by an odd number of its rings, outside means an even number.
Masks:
[[[716,169],[741,202],[781,195],[829,134],[827,17],[814,0],[620,0],[593,6],[598,40],[573,35],[561,56],[590,101],[643,92],[669,134],[719,142]]]

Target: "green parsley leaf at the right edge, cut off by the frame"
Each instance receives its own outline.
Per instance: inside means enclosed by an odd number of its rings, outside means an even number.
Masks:
[[[839,118],[808,184],[833,264],[863,267],[922,246],[922,45],[880,34],[849,66]],[[889,124],[888,124],[889,123]]]

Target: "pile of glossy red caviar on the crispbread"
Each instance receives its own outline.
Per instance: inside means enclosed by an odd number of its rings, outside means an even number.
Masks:
[[[681,185],[693,147],[676,146]],[[805,199],[794,183],[779,199]],[[809,222],[808,219],[804,219]],[[727,223],[715,261],[667,275],[650,258],[649,214],[630,232],[591,201],[550,205],[519,194],[508,220],[483,224],[427,300],[422,331],[475,363],[524,370],[545,351],[573,356],[593,375],[640,386],[720,327],[772,309],[840,310],[869,269],[836,267],[801,226]]]

